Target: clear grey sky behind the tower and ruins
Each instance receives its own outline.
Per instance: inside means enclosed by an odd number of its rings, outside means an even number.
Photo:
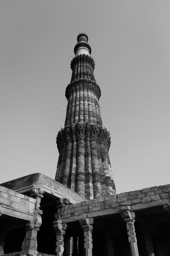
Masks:
[[[117,193],[170,183],[170,1],[0,1],[1,183],[54,179],[77,34],[95,59]]]

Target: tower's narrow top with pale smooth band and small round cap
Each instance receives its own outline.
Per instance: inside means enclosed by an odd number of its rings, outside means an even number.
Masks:
[[[90,55],[91,54],[91,47],[87,43],[88,42],[88,36],[86,33],[81,32],[77,36],[77,44],[74,47],[74,54],[77,57],[80,54],[86,54]]]

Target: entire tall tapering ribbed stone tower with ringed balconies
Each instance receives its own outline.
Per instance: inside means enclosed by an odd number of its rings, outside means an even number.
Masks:
[[[100,87],[94,77],[95,62],[85,33],[79,33],[71,61],[71,82],[65,127],[58,132],[59,151],[55,180],[86,199],[116,193],[108,150],[110,134],[100,114]]]

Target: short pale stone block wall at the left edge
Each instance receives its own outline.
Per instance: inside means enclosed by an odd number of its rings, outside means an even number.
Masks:
[[[0,204],[14,210],[34,214],[36,199],[17,193],[12,189],[0,186]]]

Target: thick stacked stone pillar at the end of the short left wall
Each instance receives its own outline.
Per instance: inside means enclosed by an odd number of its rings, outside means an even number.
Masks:
[[[41,198],[43,198],[44,191],[41,191],[39,188],[33,188],[30,191],[30,197],[36,198],[36,205],[34,210],[34,221],[29,221],[26,224],[26,237],[23,240],[21,251],[19,255],[37,255],[37,232],[41,226],[42,219],[41,216],[43,211],[40,210]]]

